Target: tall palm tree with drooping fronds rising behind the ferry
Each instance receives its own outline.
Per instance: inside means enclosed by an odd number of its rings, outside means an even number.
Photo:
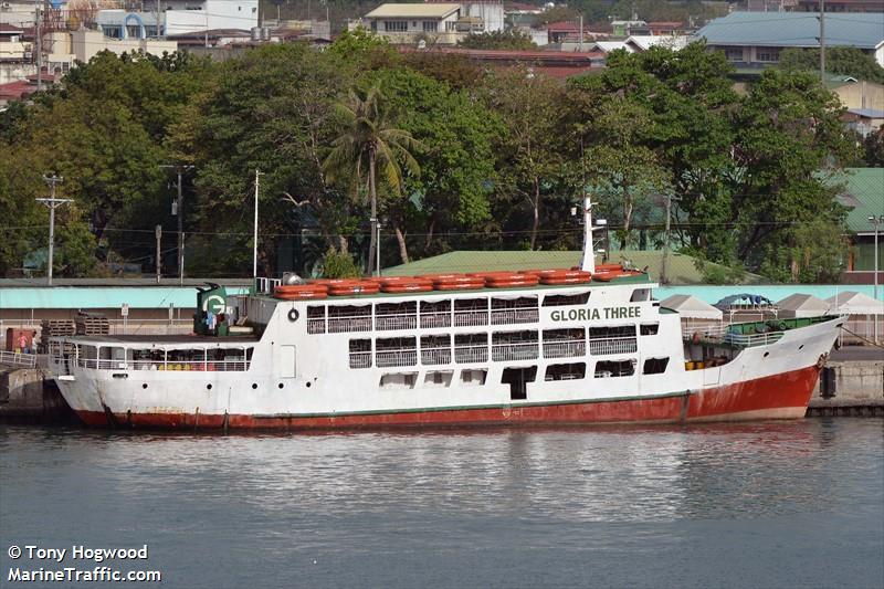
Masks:
[[[348,179],[358,187],[364,170],[368,169],[368,193],[371,202],[371,238],[368,245],[368,273],[375,269],[377,248],[378,190],[377,170],[394,193],[402,189],[401,161],[406,169],[420,173],[420,166],[411,155],[419,143],[410,133],[398,129],[389,118],[382,104],[383,96],[378,86],[365,94],[350,90],[346,103],[338,103],[338,137],[332,143],[332,151],[323,162],[329,181]],[[379,270],[379,269],[377,269]]]

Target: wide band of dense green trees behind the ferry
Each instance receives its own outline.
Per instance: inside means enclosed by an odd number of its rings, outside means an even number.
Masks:
[[[676,249],[735,273],[831,280],[845,244],[830,177],[859,152],[838,101],[812,73],[769,70],[744,94],[729,74],[720,53],[692,44],[614,52],[564,83],[532,64],[400,54],[362,30],[326,51],[264,45],[214,64],[103,53],[0,115],[0,273],[45,248],[34,199],[48,172],[75,201],[59,211],[59,275],[149,271],[155,225],[177,271],[161,166],[186,165],[189,275],[251,274],[260,170],[262,274],[365,272],[371,218],[383,265],[575,249],[570,209],[589,193],[618,246],[667,240],[672,202]],[[870,161],[881,143],[865,143]]]

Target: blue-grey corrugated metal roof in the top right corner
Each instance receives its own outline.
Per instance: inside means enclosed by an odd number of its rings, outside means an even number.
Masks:
[[[817,48],[815,12],[732,12],[697,31],[709,45]],[[884,13],[825,14],[825,44],[876,49],[884,43]]]

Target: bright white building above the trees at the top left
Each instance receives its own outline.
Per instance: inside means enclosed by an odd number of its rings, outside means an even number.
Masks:
[[[154,2],[145,2],[145,8]],[[159,11],[98,11],[98,27],[116,39],[257,27],[257,0],[160,0]]]

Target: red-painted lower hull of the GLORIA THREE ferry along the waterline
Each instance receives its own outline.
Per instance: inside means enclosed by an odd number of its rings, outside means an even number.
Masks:
[[[335,416],[113,413],[77,411],[97,428],[337,430],[446,425],[667,423],[798,419],[807,411],[819,370],[811,366],[702,391],[650,399],[418,410]]]

